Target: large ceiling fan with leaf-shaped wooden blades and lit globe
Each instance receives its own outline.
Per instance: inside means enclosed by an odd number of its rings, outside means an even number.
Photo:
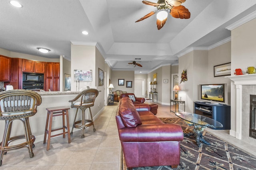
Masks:
[[[154,15],[155,13],[157,13],[156,25],[157,25],[157,29],[159,30],[164,26],[167,20],[168,13],[170,13],[170,15],[173,16],[174,18],[188,19],[190,18],[190,12],[188,11],[187,8],[181,5],[185,1],[186,0],[158,0],[157,3],[154,3],[154,2],[143,0],[142,1],[143,4],[156,6],[157,10],[148,13],[147,15],[145,15],[144,17],[140,18],[135,22],[142,21]]]

